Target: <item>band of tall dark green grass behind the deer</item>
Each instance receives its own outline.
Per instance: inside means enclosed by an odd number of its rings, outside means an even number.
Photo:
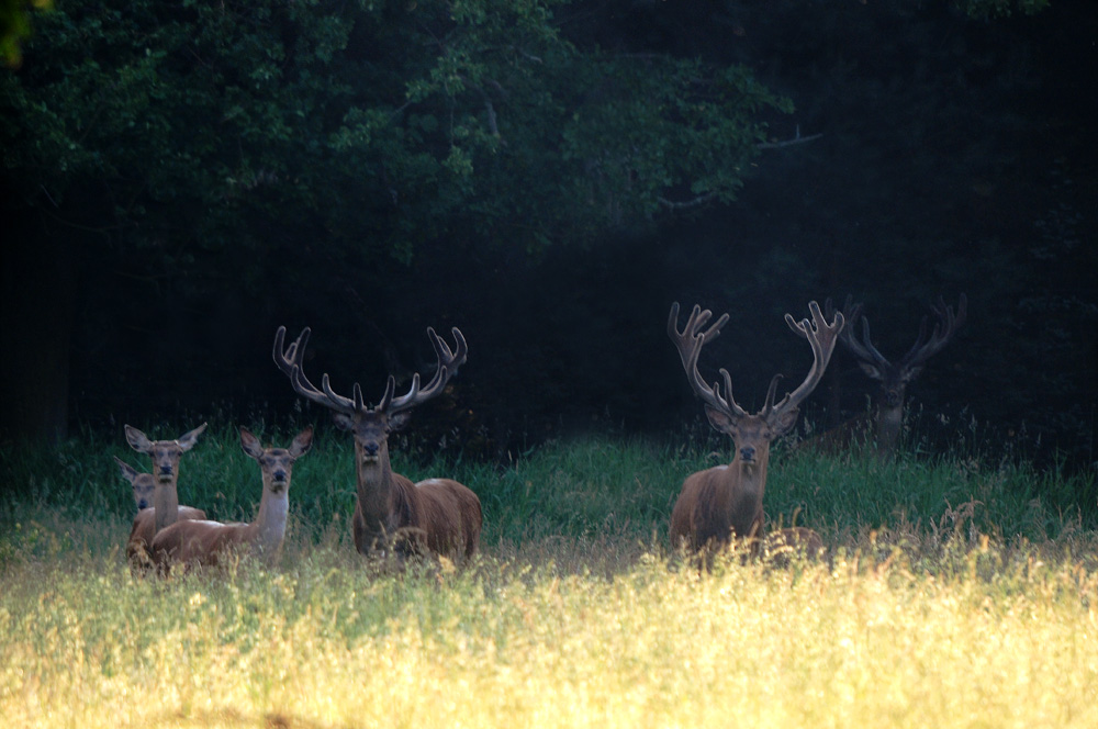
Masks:
[[[172,438],[194,424],[154,426]],[[265,442],[287,445],[298,428],[257,428]],[[531,540],[612,539],[652,543],[666,534],[683,479],[729,456],[727,444],[679,444],[587,437],[552,442],[507,463],[441,457],[422,444],[393,444],[394,469],[413,480],[434,475],[469,485],[484,508],[485,545],[514,549]],[[355,505],[351,438],[322,427],[312,451],[294,467],[291,531],[318,541],[344,525]],[[82,517],[120,519],[134,513],[130,487],[112,457],[139,471],[148,458],[121,433],[88,433],[58,448],[0,448],[0,524],[38,507]],[[219,520],[250,520],[261,493],[258,466],[239,447],[235,428],[212,426],[180,462],[180,502]],[[832,543],[869,530],[941,529],[964,507],[968,527],[999,539],[1044,541],[1098,526],[1098,479],[1093,471],[1038,472],[1026,463],[985,463],[978,457],[914,457],[878,461],[869,453],[772,455],[765,508],[771,524],[809,526]]]

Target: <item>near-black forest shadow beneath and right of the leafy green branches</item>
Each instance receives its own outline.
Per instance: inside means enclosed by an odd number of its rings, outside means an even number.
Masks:
[[[774,141],[820,136],[764,150],[733,204],[536,255],[440,236],[411,263],[366,263],[333,256],[323,229],[280,239],[270,220],[269,250],[173,258],[40,243],[41,222],[9,213],[8,235],[31,242],[5,244],[9,386],[25,371],[12,362],[57,329],[71,332],[70,429],[326,426],[299,414],[271,361],[278,326],[311,326],[307,373],[329,372],[340,393],[360,381],[368,400],[390,372],[403,386],[429,377],[425,328],[452,341],[458,326],[468,365],[414,428],[498,458],[562,433],[701,427],[665,335],[673,301],[731,315],[703,372],[727,367],[758,408],[774,373],[793,388],[811,362],[786,312],[852,294],[899,357],[928,304],[964,292],[967,324],[908,390],[916,438],[1094,466],[1098,5],[988,22],[933,2],[592,2],[559,15],[581,47],[743,63],[796,106],[769,120]],[[65,257],[75,274],[55,272]],[[56,288],[54,310],[26,307],[27,285]],[[808,423],[863,411],[870,384],[840,349]]]

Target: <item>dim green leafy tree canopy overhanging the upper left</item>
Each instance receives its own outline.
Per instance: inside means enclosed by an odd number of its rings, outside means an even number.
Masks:
[[[730,200],[787,102],[742,68],[581,52],[558,4],[65,3],[0,79],[4,175],[168,257],[274,221],[351,259],[539,247]]]

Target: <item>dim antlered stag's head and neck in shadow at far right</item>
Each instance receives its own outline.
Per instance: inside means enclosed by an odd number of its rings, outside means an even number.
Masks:
[[[830,315],[833,312],[830,299],[825,306]],[[843,313],[848,325],[840,333],[839,340],[854,356],[862,372],[879,385],[874,397],[875,406],[871,414],[872,424],[859,433],[856,437],[863,440],[866,437],[871,438],[877,457],[888,459],[895,455],[900,433],[904,429],[904,400],[907,385],[922,372],[927,360],[944,349],[956,330],[964,325],[967,317],[968,300],[963,293],[961,294],[955,314],[953,306],[946,305],[945,300],[941,296],[935,303],[931,303],[930,309],[935,318],[933,328],[928,329],[927,317],[923,316],[915,344],[895,365],[873,345],[870,336],[870,321],[862,314],[862,309],[861,302],[855,304],[851,296],[847,296]],[[854,335],[859,321],[862,325],[861,340]],[[870,433],[865,430],[870,430]]]

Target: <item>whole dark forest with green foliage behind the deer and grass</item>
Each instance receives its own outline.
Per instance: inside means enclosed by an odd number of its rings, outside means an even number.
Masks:
[[[673,440],[707,428],[673,302],[730,315],[701,369],[752,410],[811,363],[786,313],[852,296],[896,361],[963,295],[905,447],[1095,464],[1090,2],[108,0],[30,20],[0,71],[5,444],[330,427],[273,366],[279,326],[310,327],[310,375],[368,401],[429,378],[427,327],[459,327],[468,363],[411,429],[473,459]],[[874,393],[840,348],[800,435]]]

